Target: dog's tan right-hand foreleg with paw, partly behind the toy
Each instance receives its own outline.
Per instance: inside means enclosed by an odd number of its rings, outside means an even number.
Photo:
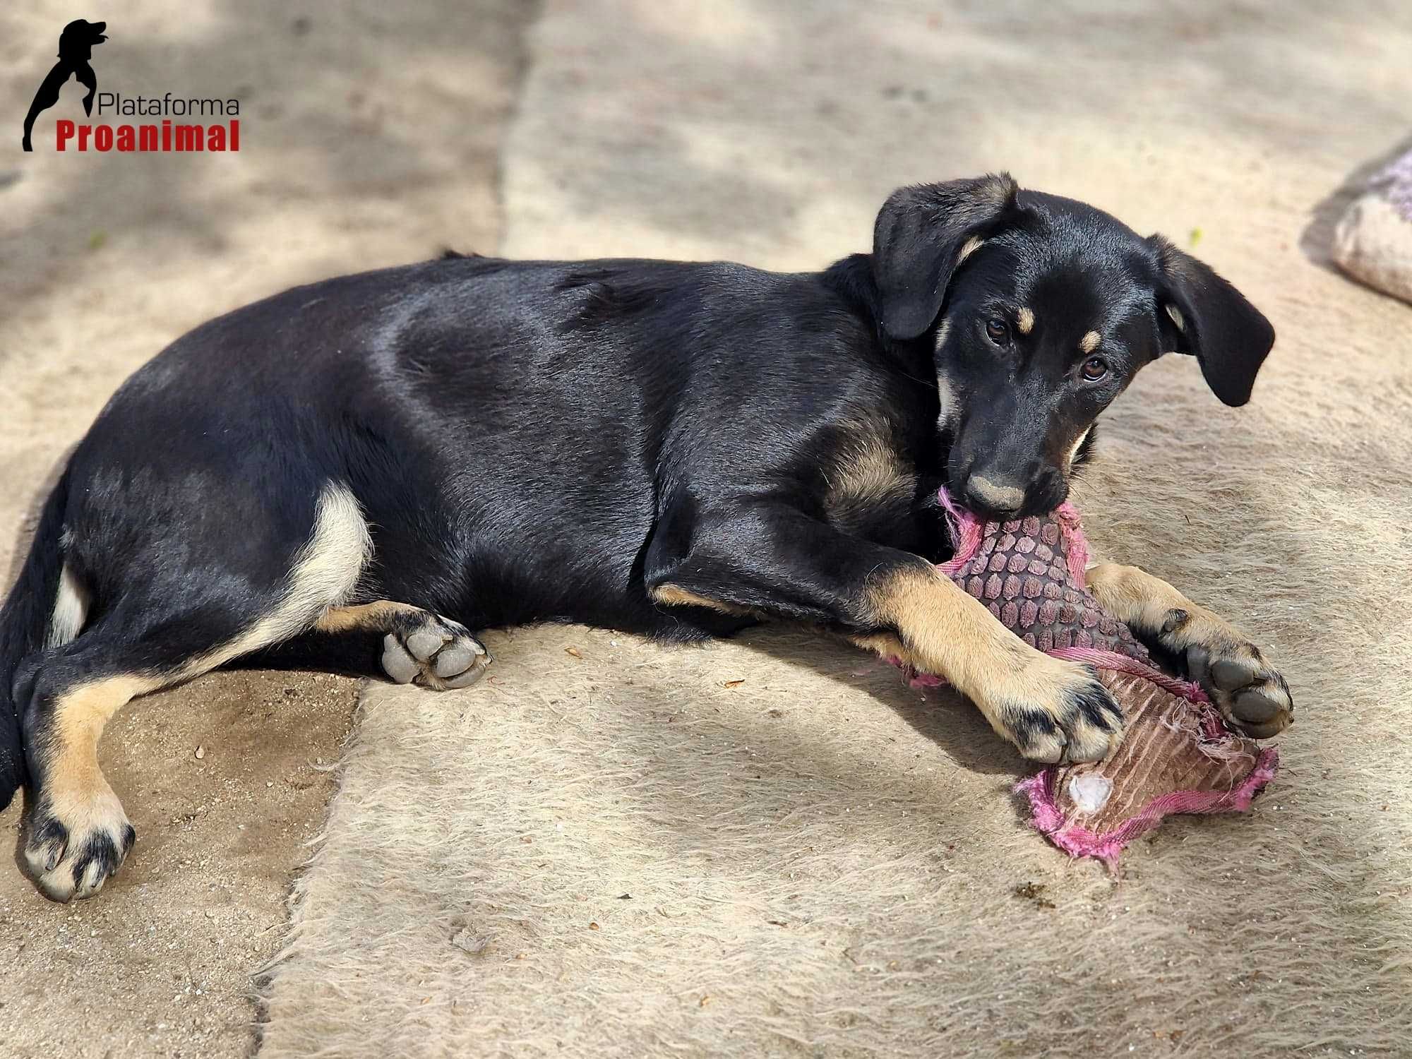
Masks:
[[[1268,738],[1293,720],[1285,678],[1223,617],[1137,566],[1103,563],[1087,572],[1087,582],[1108,614],[1183,657],[1192,679],[1247,734]]]

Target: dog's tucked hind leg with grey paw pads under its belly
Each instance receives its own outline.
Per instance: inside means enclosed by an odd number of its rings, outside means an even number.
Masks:
[[[306,633],[244,659],[249,665],[385,676],[435,690],[467,688],[491,662],[465,626],[411,603],[330,607]]]

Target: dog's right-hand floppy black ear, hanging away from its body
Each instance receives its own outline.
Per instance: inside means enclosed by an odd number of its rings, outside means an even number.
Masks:
[[[1255,374],[1275,345],[1275,329],[1210,265],[1178,250],[1162,236],[1148,241],[1158,253],[1158,322],[1163,347],[1193,354],[1206,384],[1221,401],[1231,407],[1245,404]]]

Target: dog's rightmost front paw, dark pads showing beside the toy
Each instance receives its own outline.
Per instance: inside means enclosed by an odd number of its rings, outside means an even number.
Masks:
[[[1200,683],[1221,716],[1251,738],[1269,738],[1295,719],[1285,678],[1265,662],[1258,647],[1210,611],[1168,611],[1158,642],[1186,661],[1187,678]]]

